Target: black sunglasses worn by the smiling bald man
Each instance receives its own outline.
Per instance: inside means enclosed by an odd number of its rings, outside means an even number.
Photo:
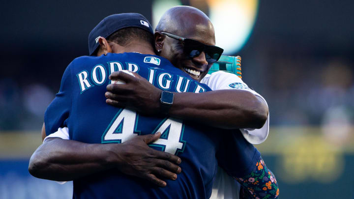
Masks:
[[[162,34],[166,34],[167,36],[182,41],[184,44],[183,52],[188,57],[198,57],[202,52],[206,54],[206,60],[208,63],[214,63],[219,60],[221,54],[224,52],[224,49],[219,48],[217,46],[209,46],[205,45],[199,41],[194,39],[183,38],[168,32],[161,32]]]

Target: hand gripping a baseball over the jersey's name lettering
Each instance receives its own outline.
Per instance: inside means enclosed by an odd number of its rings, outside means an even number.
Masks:
[[[107,104],[116,107],[129,107],[143,114],[160,112],[162,90],[150,84],[137,73],[135,77],[118,71],[109,76],[110,80],[121,80],[125,84],[109,84],[105,93]]]

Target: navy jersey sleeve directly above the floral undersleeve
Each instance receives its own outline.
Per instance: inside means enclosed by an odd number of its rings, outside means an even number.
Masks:
[[[218,165],[232,177],[249,174],[261,157],[261,153],[240,133],[224,134],[218,147]]]

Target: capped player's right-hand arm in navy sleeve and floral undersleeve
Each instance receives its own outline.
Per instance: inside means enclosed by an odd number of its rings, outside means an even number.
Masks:
[[[268,195],[269,199],[278,197],[275,176],[266,167],[261,153],[253,144],[237,133],[227,134],[221,143],[216,154],[218,166],[241,185],[243,198],[256,199],[263,194]]]

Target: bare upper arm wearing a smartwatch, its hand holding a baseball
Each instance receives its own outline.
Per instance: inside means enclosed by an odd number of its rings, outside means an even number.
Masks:
[[[114,72],[111,80],[123,80],[124,85],[107,85],[107,103],[127,106],[144,114],[160,113],[162,90],[134,73],[130,76]],[[169,115],[186,120],[207,123],[223,128],[261,128],[267,119],[266,102],[246,90],[228,89],[203,93],[174,93]]]

